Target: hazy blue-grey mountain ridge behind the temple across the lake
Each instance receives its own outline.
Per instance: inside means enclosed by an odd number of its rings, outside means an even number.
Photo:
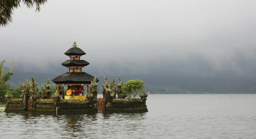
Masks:
[[[64,68],[67,69],[67,68]],[[8,68],[4,69],[5,72],[9,71]],[[66,71],[67,72],[67,71]],[[59,75],[36,73],[36,72],[21,72],[13,69],[13,75],[10,82],[17,85],[19,82],[25,82],[27,76],[31,80],[32,76],[38,85],[44,84],[49,78],[52,83],[52,79],[65,73],[61,72]],[[90,72],[88,72],[91,74]],[[93,74],[91,74],[93,75]],[[94,76],[94,75],[93,75]],[[163,88],[170,88],[170,92],[173,90],[188,90],[194,92],[252,92],[256,93],[256,78],[254,76],[243,76],[243,74],[236,74],[231,71],[215,72],[213,75],[200,75],[198,73],[182,73],[179,71],[169,71],[169,73],[156,73],[156,74],[134,74],[134,75],[105,75],[107,80],[112,82],[115,77],[115,83],[118,83],[118,77],[124,83],[127,80],[140,79],[145,82],[146,92],[156,92],[153,88],[159,88],[166,93]],[[99,93],[102,89],[104,75],[97,75],[100,80],[98,82]],[[162,88],[162,89],[161,89]],[[159,92],[161,93],[161,92]]]

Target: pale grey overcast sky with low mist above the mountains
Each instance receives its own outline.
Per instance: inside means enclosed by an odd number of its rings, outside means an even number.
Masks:
[[[0,29],[0,59],[56,73],[47,69],[67,70],[64,53],[76,41],[85,68],[101,74],[247,72],[256,70],[255,7],[255,0],[50,0],[35,13],[21,5]]]

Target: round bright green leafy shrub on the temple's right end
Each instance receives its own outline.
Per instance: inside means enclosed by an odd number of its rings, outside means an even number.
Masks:
[[[142,80],[129,80],[124,83],[123,91],[127,95],[128,99],[139,98],[144,88],[144,82]]]

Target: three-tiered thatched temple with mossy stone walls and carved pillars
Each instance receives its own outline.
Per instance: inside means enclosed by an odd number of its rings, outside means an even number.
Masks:
[[[23,84],[21,98],[14,99],[12,95],[6,95],[5,112],[22,113],[97,113],[97,112],[148,112],[146,106],[147,94],[144,91],[140,98],[127,99],[122,91],[123,82],[119,77],[118,84],[113,78],[110,83],[104,77],[102,94],[103,98],[97,98],[99,81],[96,76],[82,72],[82,68],[89,65],[81,57],[86,53],[76,47],[65,52],[70,59],[62,65],[69,69],[52,81],[56,84],[56,90],[50,90],[50,80],[44,84],[41,92],[38,90],[34,77],[32,81]],[[64,86],[67,89],[64,90]],[[117,87],[117,89],[116,89]],[[51,92],[55,92],[51,95]],[[64,93],[66,92],[66,93]],[[117,97],[116,97],[117,95]]]

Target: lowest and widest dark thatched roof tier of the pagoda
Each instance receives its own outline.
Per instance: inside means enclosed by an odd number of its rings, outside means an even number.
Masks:
[[[56,84],[64,84],[64,83],[81,83],[81,84],[88,84],[93,81],[93,76],[89,75],[85,72],[66,72],[52,81]],[[99,79],[96,78],[96,82],[99,82]]]

